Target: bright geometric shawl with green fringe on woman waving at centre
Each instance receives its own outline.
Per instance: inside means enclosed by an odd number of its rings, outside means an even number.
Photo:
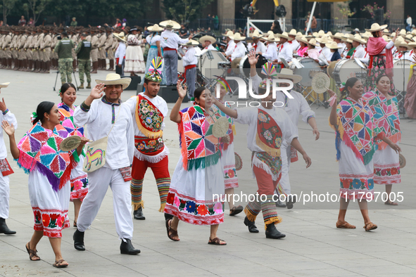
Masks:
[[[184,169],[205,168],[216,165],[221,156],[218,139],[213,136],[214,120],[198,105],[184,108],[178,123],[179,145]]]

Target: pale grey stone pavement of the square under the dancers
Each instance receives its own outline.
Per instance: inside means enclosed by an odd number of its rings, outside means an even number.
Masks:
[[[105,78],[107,72],[92,75]],[[8,108],[16,115],[19,125],[16,139],[30,128],[30,115],[41,101],[60,101],[53,91],[56,75],[0,70],[0,83],[11,82],[1,90]],[[58,79],[58,84],[59,79]],[[94,84],[94,81],[93,81]],[[59,86],[58,86],[59,87]],[[77,92],[76,104],[82,103],[89,90]],[[124,91],[122,99],[135,91]],[[189,105],[189,104],[184,104]],[[172,108],[172,104],[169,104]],[[303,147],[313,159],[305,169],[303,161],[291,165],[293,193],[339,193],[338,165],[335,161],[334,132],[329,128],[329,110],[313,110],[321,138],[314,141],[308,125],[299,123]],[[141,250],[138,256],[120,255],[120,240],[115,233],[112,193],[108,190],[101,210],[86,232],[87,251],[73,247],[70,227],[63,231],[63,257],[70,266],[56,269],[49,241],[44,238],[37,250],[40,262],[30,262],[25,243],[33,233],[33,214],[27,191],[27,175],[18,169],[11,155],[8,160],[15,171],[11,175],[10,218],[8,226],[17,231],[15,236],[0,235],[0,276],[416,276],[416,121],[402,120],[403,143],[401,148],[407,159],[402,170],[402,183],[393,186],[393,192],[403,192],[404,200],[397,207],[383,205],[381,200],[370,203],[370,218],[379,226],[365,232],[358,204],[351,202],[347,220],[356,229],[335,228],[339,203],[297,203],[293,210],[279,209],[283,218],[277,226],[286,238],[265,238],[261,217],[257,220],[260,233],[248,233],[243,224],[244,215],[227,216],[220,225],[218,236],[227,246],[208,245],[209,227],[179,224],[180,242],[166,236],[163,214],[158,212],[159,198],[156,181],[151,171],[144,181],[144,214],[146,220],[134,220],[132,243]],[[177,127],[166,120],[164,139],[170,148],[170,172],[179,159]],[[251,179],[251,153],[246,148],[246,127],[237,124],[236,151],[244,167],[239,171],[239,188],[236,193],[255,193],[256,182]],[[6,147],[8,138],[5,138]],[[376,186],[383,192],[384,186]],[[245,202],[241,202],[244,205]],[[225,207],[228,208],[227,204]],[[70,204],[70,218],[73,205]]]

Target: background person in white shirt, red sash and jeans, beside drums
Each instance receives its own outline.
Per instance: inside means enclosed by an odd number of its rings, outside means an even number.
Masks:
[[[187,53],[185,53],[185,55],[182,57],[182,65],[185,67],[185,79],[187,79],[188,94],[192,99],[194,98],[196,65],[198,64],[198,59],[195,56],[195,47],[198,46],[198,41],[191,39],[187,44],[182,45],[187,47]]]

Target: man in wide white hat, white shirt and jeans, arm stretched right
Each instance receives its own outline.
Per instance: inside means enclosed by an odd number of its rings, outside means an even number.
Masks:
[[[178,44],[186,44],[192,39],[192,34],[187,39],[181,39],[173,30],[179,30],[179,23],[172,20],[160,22],[160,27],[166,30],[160,34],[163,48],[163,63],[166,69],[166,86],[176,86],[177,83],[177,46]]]

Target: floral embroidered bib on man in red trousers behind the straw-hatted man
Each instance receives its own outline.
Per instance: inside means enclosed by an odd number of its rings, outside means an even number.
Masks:
[[[137,97],[136,122],[137,127],[144,136],[150,139],[158,139],[163,136],[160,129],[163,123],[162,112],[146,97],[139,94]]]

